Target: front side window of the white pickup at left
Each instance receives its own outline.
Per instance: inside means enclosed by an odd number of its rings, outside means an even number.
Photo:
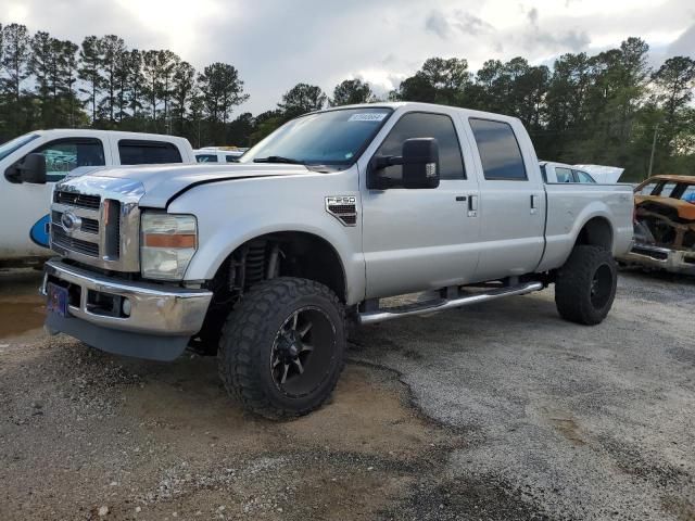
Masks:
[[[56,139],[34,150],[46,157],[46,180],[56,182],[78,166],[103,166],[104,147],[99,139]]]

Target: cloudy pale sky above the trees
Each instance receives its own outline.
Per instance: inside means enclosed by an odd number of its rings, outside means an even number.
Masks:
[[[197,69],[235,65],[251,96],[238,111],[275,107],[296,82],[329,94],[349,78],[381,94],[431,56],[517,55],[552,65],[566,52],[650,46],[658,66],[695,58],[691,0],[0,0],[0,23],[79,43],[116,34],[138,49],[170,49]]]

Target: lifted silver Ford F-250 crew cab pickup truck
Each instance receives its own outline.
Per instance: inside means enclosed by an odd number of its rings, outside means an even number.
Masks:
[[[286,124],[238,164],[60,183],[47,327],[142,358],[198,344],[217,354],[245,407],[298,416],[336,385],[350,321],[555,283],[564,318],[601,322],[632,214],[629,186],[544,183],[514,117],[420,103],[331,109]],[[433,297],[380,301],[413,292]]]

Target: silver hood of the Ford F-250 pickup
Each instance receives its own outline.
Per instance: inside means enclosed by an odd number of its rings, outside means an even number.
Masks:
[[[68,187],[87,185],[101,186],[109,190],[110,179],[113,186],[141,186],[144,192],[140,205],[153,208],[165,208],[168,203],[187,189],[208,183],[278,176],[299,176],[314,174],[303,165],[285,164],[225,164],[225,165],[152,165],[131,167],[100,168],[85,173],[83,176],[68,177],[59,186]],[[98,179],[97,179],[98,178]],[[89,180],[96,182],[89,182]],[[124,183],[131,181],[131,183]]]

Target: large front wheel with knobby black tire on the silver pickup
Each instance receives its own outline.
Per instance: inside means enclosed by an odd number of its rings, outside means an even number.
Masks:
[[[344,364],[345,315],[318,282],[281,277],[254,287],[222,331],[217,353],[227,391],[269,419],[320,407]]]

